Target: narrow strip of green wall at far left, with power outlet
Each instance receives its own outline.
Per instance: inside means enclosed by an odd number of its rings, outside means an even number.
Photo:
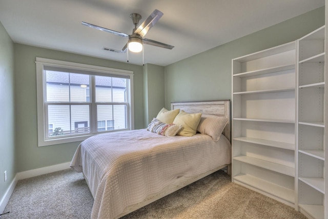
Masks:
[[[14,132],[14,43],[0,22],[0,201],[16,174]],[[7,181],[4,172],[7,170]],[[2,211],[0,210],[0,213]]]

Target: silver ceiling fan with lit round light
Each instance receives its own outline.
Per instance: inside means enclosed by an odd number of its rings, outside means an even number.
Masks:
[[[148,44],[165,49],[173,49],[174,46],[153,41],[152,39],[143,38],[148,33],[148,31],[155,25],[155,23],[159,20],[159,18],[162,15],[163,13],[161,11],[155,9],[153,13],[151,13],[151,15],[149,15],[149,17],[137,28],[138,23],[141,19],[141,15],[137,13],[130,14],[130,17],[134,24],[134,29],[132,31],[132,34],[130,35],[126,33],[117,32],[115,30],[110,30],[104,27],[99,27],[86,22],[82,22],[82,24],[98,30],[106,31],[108,33],[113,33],[117,36],[129,37],[128,43],[122,48],[122,50],[107,49],[110,51],[125,53],[127,52],[127,49],[129,49],[131,52],[140,52],[142,50],[142,44]]]

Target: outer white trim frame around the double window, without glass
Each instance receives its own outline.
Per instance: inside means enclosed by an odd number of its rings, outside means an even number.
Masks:
[[[128,129],[133,130],[134,129],[134,101],[133,101],[133,71],[129,70],[122,70],[122,69],[114,69],[114,68],[107,68],[107,67],[100,67],[100,66],[93,66],[93,65],[86,65],[86,64],[80,64],[80,63],[72,63],[72,62],[66,62],[66,61],[58,61],[55,59],[48,59],[48,58],[40,58],[36,57],[36,99],[37,99],[37,133],[38,133],[38,147],[42,146],[48,146],[48,145],[56,145],[56,144],[64,144],[64,143],[70,143],[70,142],[79,142],[86,140],[88,137],[99,134],[99,133],[93,133],[93,134],[86,134],[86,135],[78,135],[78,136],[65,136],[62,138],[54,138],[49,139],[47,138],[47,132],[48,132],[48,126],[46,126],[46,107],[45,107],[45,99],[46,99],[46,83],[45,83],[45,70],[44,66],[54,66],[54,67],[62,67],[62,68],[71,68],[71,69],[78,69],[82,71],[92,71],[102,74],[116,74],[116,75],[125,75],[130,77],[130,83],[129,83],[129,106],[128,106],[128,115],[127,115],[127,121],[128,121]],[[93,113],[96,110],[93,111]],[[92,115],[94,116],[94,115]],[[91,117],[92,117],[91,116]],[[91,120],[90,117],[90,120]],[[95,117],[96,118],[96,117]],[[93,123],[93,127],[96,127],[97,121],[90,121],[90,123]]]

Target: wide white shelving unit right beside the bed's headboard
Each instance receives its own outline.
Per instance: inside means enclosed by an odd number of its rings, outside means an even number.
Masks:
[[[295,209],[296,54],[291,42],[232,60],[233,182]]]

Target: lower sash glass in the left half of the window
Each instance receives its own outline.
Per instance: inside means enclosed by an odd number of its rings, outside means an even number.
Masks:
[[[49,105],[48,123],[53,125],[48,137],[90,133],[89,105]]]

